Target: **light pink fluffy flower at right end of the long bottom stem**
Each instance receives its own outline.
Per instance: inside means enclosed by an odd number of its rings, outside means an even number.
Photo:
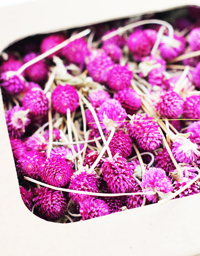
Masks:
[[[142,177],[141,186],[144,192],[163,192],[168,193],[173,191],[172,181],[167,178],[165,171],[162,168],[151,167],[146,169]],[[157,194],[145,195],[145,197],[155,203]]]

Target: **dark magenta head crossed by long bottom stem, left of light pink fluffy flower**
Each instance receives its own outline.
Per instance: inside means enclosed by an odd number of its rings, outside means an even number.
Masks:
[[[142,192],[139,184],[135,183],[131,191],[132,193]],[[125,205],[128,209],[140,207],[143,203],[142,195],[129,195],[126,197]]]

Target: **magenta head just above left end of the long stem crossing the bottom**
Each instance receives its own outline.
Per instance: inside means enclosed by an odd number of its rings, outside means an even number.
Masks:
[[[27,151],[17,161],[18,173],[33,179],[40,177],[41,164],[45,161],[44,154],[39,151]]]

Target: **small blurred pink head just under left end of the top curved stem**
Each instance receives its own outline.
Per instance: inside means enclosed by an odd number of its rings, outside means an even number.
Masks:
[[[112,61],[115,63],[119,63],[123,54],[122,49],[113,43],[104,43],[102,48],[108,56],[111,57]]]

